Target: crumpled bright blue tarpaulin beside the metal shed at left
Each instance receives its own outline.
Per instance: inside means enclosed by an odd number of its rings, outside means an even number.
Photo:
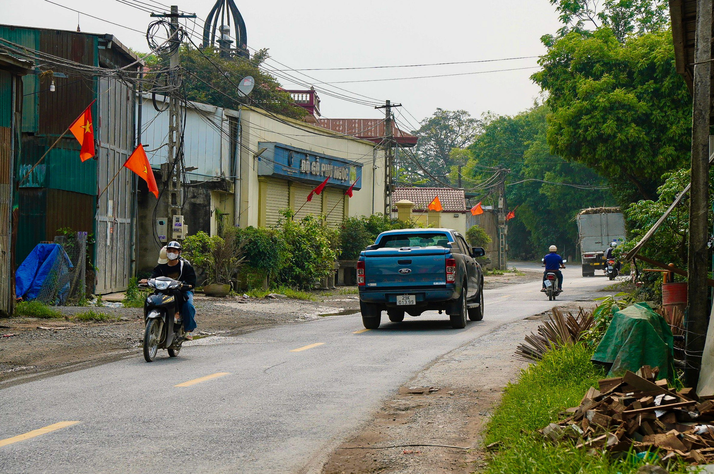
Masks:
[[[60,266],[64,271],[55,266],[58,258],[64,259],[64,262],[61,262],[64,265]],[[57,282],[59,275],[52,274],[53,267],[55,268],[55,273],[66,273],[67,268],[72,268],[69,257],[67,257],[62,246],[59,244],[37,244],[15,271],[15,296],[25,301],[36,299],[44,284],[55,284]],[[66,285],[69,285],[69,282]],[[67,289],[69,290],[69,286]],[[57,290],[59,290],[57,295],[60,301],[54,303],[64,301],[64,297],[61,297],[61,295],[66,293],[64,288]]]

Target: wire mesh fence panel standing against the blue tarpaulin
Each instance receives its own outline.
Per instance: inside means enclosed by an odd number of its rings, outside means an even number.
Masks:
[[[87,233],[54,237],[62,248],[44,280],[37,300],[44,304],[74,304],[84,298],[86,285]]]

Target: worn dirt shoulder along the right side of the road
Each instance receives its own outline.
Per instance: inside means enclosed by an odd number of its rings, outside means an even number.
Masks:
[[[508,324],[438,359],[333,451],[322,473],[467,474],[483,468],[481,431],[503,387],[526,366],[513,352],[523,335],[547,317],[543,313]]]

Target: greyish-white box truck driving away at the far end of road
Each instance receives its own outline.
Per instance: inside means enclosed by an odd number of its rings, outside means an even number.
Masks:
[[[594,277],[605,268],[605,252],[610,242],[625,240],[625,217],[619,207],[590,207],[578,212],[578,240],[583,277]]]

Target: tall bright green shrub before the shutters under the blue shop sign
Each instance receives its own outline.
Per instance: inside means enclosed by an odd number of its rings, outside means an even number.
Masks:
[[[285,239],[287,258],[277,280],[288,287],[311,289],[333,271],[338,255],[337,232],[312,215],[294,221],[292,210],[281,214],[277,230]]]

